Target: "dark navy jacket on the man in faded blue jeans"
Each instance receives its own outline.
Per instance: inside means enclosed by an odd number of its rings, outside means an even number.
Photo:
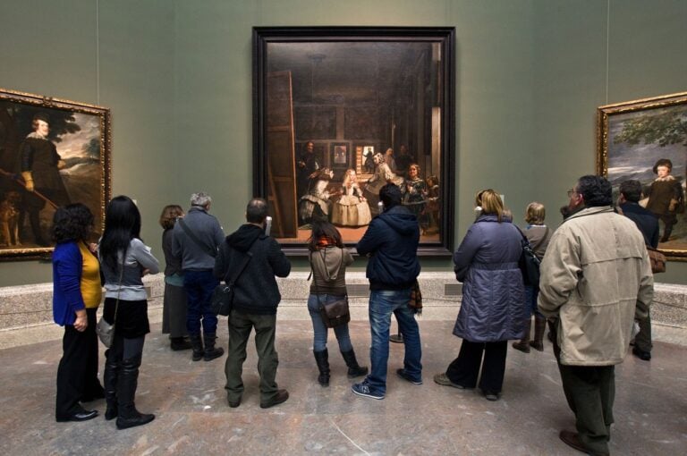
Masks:
[[[407,207],[394,206],[377,215],[358,242],[360,255],[369,255],[367,277],[371,290],[411,288],[420,274],[420,226]]]

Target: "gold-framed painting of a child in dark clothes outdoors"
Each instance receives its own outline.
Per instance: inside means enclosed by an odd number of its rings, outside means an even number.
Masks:
[[[658,249],[687,261],[687,92],[600,106],[598,173],[641,182],[640,205],[657,216]]]

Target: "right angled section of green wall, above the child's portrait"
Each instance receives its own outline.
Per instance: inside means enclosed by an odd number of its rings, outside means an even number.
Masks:
[[[596,171],[597,106],[687,90],[687,2],[540,1],[534,18],[531,191],[557,223],[565,190]],[[687,283],[687,263],[656,279]]]

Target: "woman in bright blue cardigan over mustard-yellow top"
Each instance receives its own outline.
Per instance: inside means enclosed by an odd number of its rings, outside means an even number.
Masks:
[[[104,397],[98,382],[96,313],[100,305],[100,266],[88,239],[93,214],[82,204],[59,207],[53,217],[53,317],[64,326],[63,355],[57,367],[57,421],[85,421],[98,410],[81,402]]]

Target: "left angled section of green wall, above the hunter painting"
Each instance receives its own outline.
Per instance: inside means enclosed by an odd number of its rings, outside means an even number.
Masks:
[[[113,195],[137,200],[161,254],[157,217],[178,178],[173,5],[3,0],[0,30],[0,87],[111,108]],[[0,263],[0,286],[50,281],[49,263]]]

